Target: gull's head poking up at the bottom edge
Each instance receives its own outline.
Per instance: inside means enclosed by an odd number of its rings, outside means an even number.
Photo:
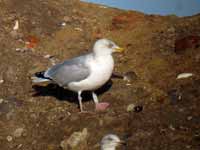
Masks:
[[[124,144],[115,134],[108,134],[101,140],[101,150],[115,150],[118,145]]]

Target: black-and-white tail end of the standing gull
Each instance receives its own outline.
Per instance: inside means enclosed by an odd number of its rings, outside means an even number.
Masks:
[[[45,77],[44,74],[45,74],[45,71],[36,72],[35,75],[31,77],[32,82],[34,82],[34,83],[40,83],[40,82],[51,81],[51,79]]]

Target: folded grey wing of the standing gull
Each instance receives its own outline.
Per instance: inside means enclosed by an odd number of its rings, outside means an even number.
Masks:
[[[85,62],[89,55],[83,55],[57,64],[45,72],[45,77],[52,79],[60,86],[66,86],[73,81],[81,81],[90,74]]]

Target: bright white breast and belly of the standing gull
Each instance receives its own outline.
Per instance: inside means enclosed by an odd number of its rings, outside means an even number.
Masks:
[[[88,62],[91,74],[85,80],[68,85],[73,91],[95,90],[104,85],[112,75],[114,61],[111,55],[91,59]]]

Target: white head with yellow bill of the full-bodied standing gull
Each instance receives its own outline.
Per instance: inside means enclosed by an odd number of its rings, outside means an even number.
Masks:
[[[113,52],[122,52],[123,49],[108,39],[99,39],[95,42],[93,51],[95,55],[111,55]]]

